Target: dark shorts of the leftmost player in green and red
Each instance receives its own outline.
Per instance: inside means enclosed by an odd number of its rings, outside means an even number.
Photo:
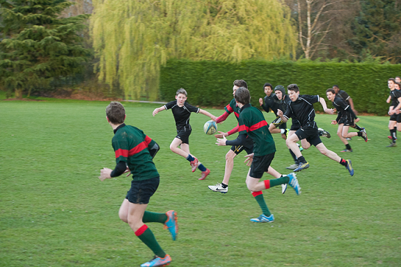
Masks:
[[[125,197],[129,202],[134,204],[148,204],[150,197],[157,191],[159,187],[160,177],[141,181],[131,181],[131,188]]]

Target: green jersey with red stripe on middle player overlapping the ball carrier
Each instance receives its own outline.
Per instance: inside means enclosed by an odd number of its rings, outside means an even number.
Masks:
[[[265,156],[276,152],[276,145],[269,131],[265,117],[258,108],[246,104],[242,106],[238,118],[239,134],[246,134],[253,140],[255,156]]]

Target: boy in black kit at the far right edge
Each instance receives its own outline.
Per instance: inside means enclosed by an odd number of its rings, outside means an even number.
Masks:
[[[391,143],[387,147],[396,147],[397,143],[397,129],[401,131],[401,91],[395,89],[396,83],[393,78],[388,79],[388,88],[390,88],[391,106],[388,108],[388,115],[390,121],[388,122],[388,129],[390,130]],[[398,86],[398,85],[397,85]]]

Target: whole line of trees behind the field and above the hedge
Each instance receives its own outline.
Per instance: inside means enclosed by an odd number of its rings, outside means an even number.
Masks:
[[[399,64],[400,19],[401,0],[0,0],[0,83],[154,100],[170,58]]]

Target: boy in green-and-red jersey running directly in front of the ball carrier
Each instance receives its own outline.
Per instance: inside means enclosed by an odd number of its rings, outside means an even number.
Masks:
[[[248,155],[251,161],[251,168],[246,176],[246,186],[251,191],[253,197],[262,209],[262,215],[258,218],[251,219],[254,223],[272,223],[274,216],[267,208],[262,190],[278,186],[281,184],[290,184],[294,188],[295,193],[301,193],[301,187],[298,184],[297,177],[294,173],[289,175],[281,175],[271,166],[276,152],[276,146],[272,134],[269,132],[267,122],[262,112],[249,104],[251,96],[246,88],[238,88],[235,92],[235,101],[240,108],[239,113],[239,136],[235,140],[228,141],[226,136],[217,139],[217,145],[241,145],[247,136],[253,140],[253,154]],[[276,177],[276,179],[260,181],[264,172]]]

